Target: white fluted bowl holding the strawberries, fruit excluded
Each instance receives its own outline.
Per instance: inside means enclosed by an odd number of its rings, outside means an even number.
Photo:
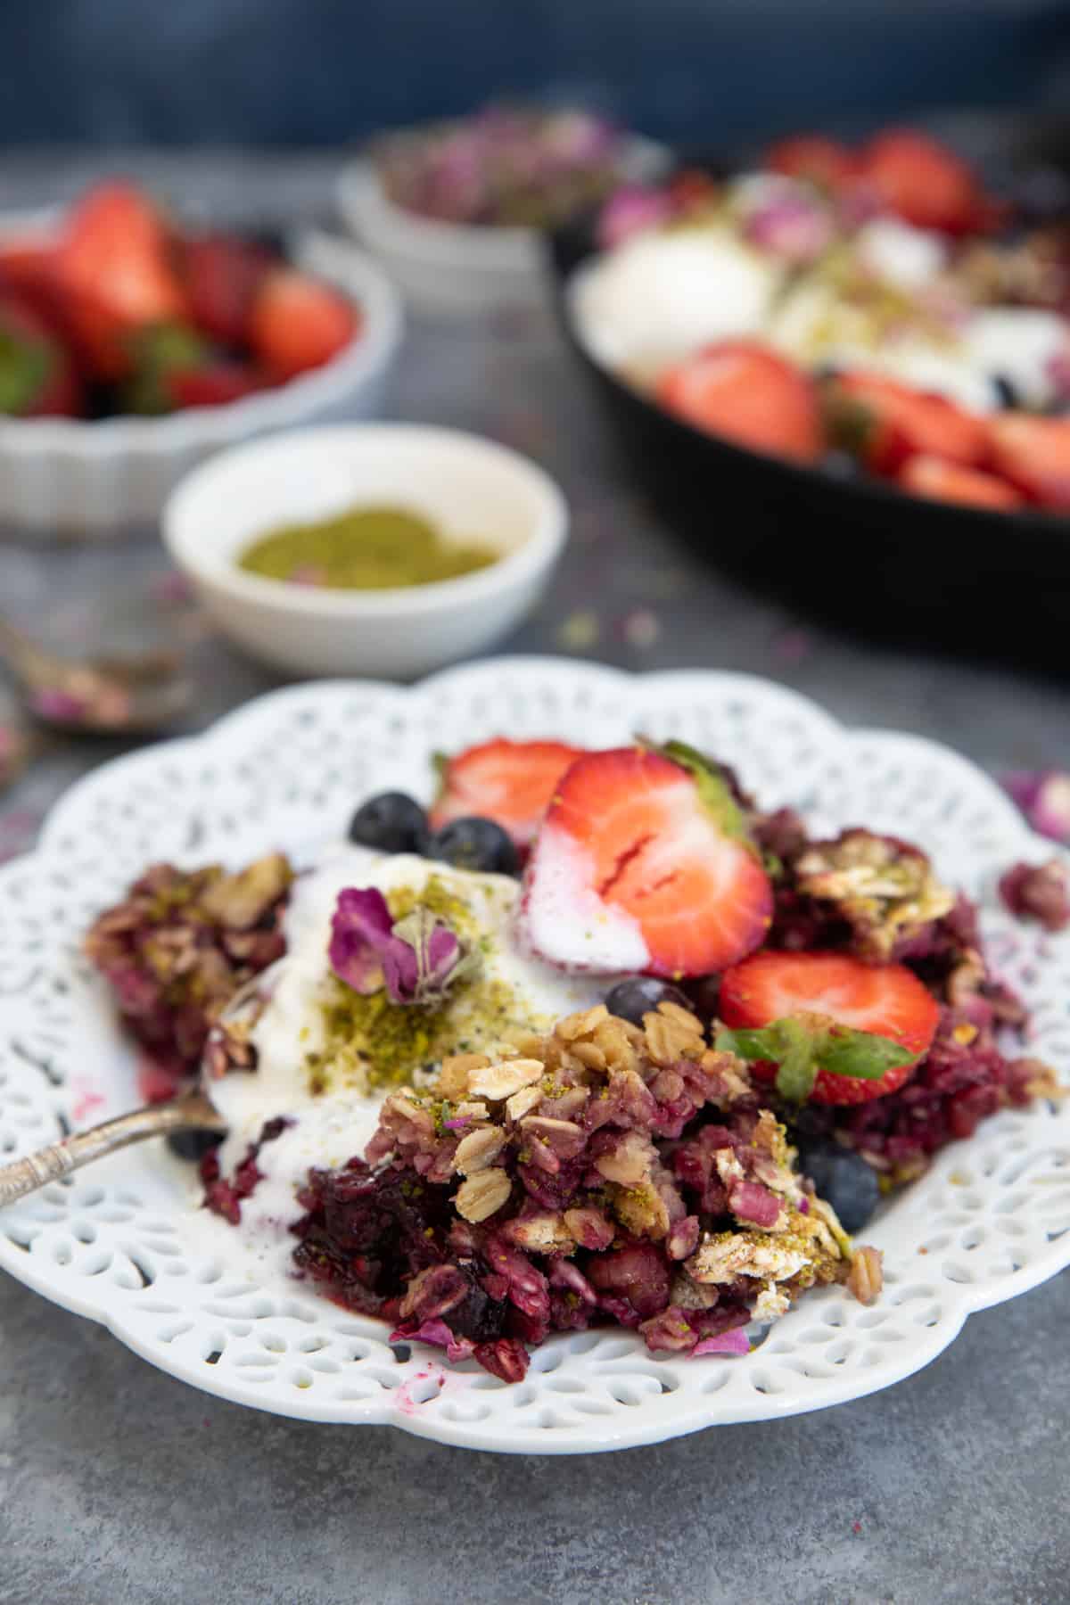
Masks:
[[[3,218],[0,233],[42,220]],[[226,406],[167,417],[0,416],[0,528],[43,539],[107,539],[156,523],[178,480],[225,446],[313,419],[367,417],[401,343],[401,300],[382,268],[350,244],[305,236],[289,252],[363,311],[359,334],[322,368]]]

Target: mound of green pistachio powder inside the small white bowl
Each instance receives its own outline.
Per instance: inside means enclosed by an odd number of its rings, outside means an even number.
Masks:
[[[237,567],[265,579],[332,591],[390,591],[488,568],[497,552],[459,546],[417,514],[399,507],[350,507],[318,523],[295,523],[260,536]]]

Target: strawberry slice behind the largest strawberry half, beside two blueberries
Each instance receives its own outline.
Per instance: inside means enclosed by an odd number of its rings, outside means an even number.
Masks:
[[[496,820],[518,847],[526,847],[550,806],[553,788],[582,753],[565,742],[484,742],[441,764],[441,790],[432,827],[451,819]]]

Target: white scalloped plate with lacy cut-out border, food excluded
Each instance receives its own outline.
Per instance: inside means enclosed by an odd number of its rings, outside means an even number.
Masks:
[[[136,1101],[133,1059],[79,957],[90,918],[151,860],[239,865],[337,835],[369,791],[427,794],[428,753],[496,733],[613,745],[677,735],[738,766],[764,806],[813,827],[868,823],[919,841],[985,899],[999,973],[1035,1011],[1036,1051],[1070,1069],[1070,942],[1007,920],[995,872],[1051,855],[964,759],[908,735],[845,732],[783,687],[738,674],[629,677],[563,660],[497,660],[414,689],[302,685],[204,737],[106,764],[0,872],[0,1154],[13,1157]],[[443,1443],[539,1454],[627,1448],[719,1422],[820,1409],[927,1364],[972,1310],[1070,1263],[1070,1103],[1001,1114],[945,1151],[866,1231],[886,1292],[863,1308],[809,1294],[749,1356],[656,1358],[621,1329],[555,1337],[505,1387],[298,1281],[271,1281],[239,1231],[196,1209],[162,1144],[114,1156],[0,1213],[0,1263],[103,1321],[172,1375],[221,1398],[329,1422],[391,1422]]]

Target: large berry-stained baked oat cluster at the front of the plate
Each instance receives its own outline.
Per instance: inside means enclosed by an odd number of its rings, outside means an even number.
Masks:
[[[792,1157],[698,1016],[663,1002],[638,1027],[598,1005],[391,1093],[364,1160],[311,1172],[295,1260],[399,1337],[509,1380],[525,1343],[603,1321],[651,1350],[741,1351],[749,1321],[852,1278]],[[873,1298],[874,1250],[865,1270]]]

